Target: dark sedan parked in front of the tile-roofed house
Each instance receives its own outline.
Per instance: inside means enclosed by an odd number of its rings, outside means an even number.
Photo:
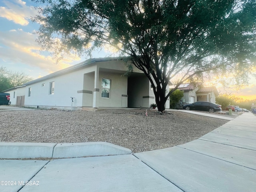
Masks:
[[[210,113],[222,110],[221,105],[211,103],[211,102],[206,102],[206,101],[198,101],[192,104],[185,104],[185,105],[182,105],[182,108],[186,110],[208,111]]]

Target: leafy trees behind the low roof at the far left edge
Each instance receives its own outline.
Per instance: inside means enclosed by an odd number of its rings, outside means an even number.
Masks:
[[[23,72],[13,72],[5,67],[0,67],[0,92],[6,89],[23,85],[33,80]]]

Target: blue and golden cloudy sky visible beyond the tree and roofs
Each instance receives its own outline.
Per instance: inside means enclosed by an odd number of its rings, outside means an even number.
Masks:
[[[36,79],[88,59],[66,55],[56,64],[49,52],[41,51],[35,41],[39,24],[30,20],[37,14],[35,6],[39,5],[31,0],[0,0],[0,67],[24,72]],[[92,57],[109,55],[110,52],[103,49],[101,52],[95,51]],[[221,94],[231,93],[242,98],[256,99],[256,78],[252,76],[248,86],[240,90],[222,88],[214,81],[208,82],[208,85],[216,86]]]

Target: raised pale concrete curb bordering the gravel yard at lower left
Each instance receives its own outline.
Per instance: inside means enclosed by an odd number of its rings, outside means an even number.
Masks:
[[[0,158],[76,158],[131,154],[132,150],[108,142],[10,143],[0,142]]]

